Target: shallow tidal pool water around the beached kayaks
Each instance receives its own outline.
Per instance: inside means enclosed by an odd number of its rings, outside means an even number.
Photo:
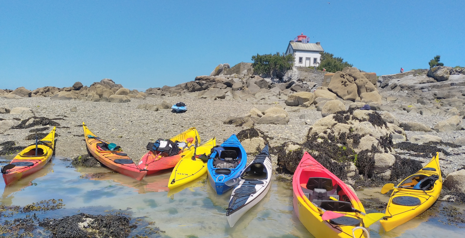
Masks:
[[[0,157],[4,162],[12,156]],[[236,225],[229,227],[226,208],[231,192],[217,195],[210,187],[206,174],[199,180],[168,191],[171,171],[149,175],[137,181],[112,172],[106,167],[71,167],[60,156],[53,157],[39,172],[29,175],[5,187],[0,203],[3,206],[25,206],[48,199],[63,199],[65,206],[46,216],[62,217],[80,212],[103,214],[104,210],[131,213],[132,217],[144,217],[166,233],[149,237],[164,238],[312,238],[292,212],[292,185],[272,179],[272,187],[266,197],[247,212]],[[376,198],[387,202],[387,196],[378,193],[379,188],[357,191],[359,198]],[[438,212],[401,225],[390,232],[383,232],[379,222],[370,226],[371,237],[463,237],[464,224],[451,224]],[[463,212],[464,207],[458,207]],[[377,212],[367,209],[368,212]],[[5,219],[4,219],[5,220]],[[129,236],[131,237],[131,235]]]

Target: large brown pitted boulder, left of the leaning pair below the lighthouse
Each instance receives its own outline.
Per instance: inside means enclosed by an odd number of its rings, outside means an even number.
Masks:
[[[357,84],[354,83],[353,77],[341,71],[337,71],[331,77],[328,89],[344,100],[355,101],[359,96]]]

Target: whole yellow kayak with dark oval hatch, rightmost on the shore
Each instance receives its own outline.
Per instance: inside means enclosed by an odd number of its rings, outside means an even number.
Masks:
[[[389,232],[425,212],[438,199],[442,182],[439,153],[436,153],[425,167],[393,189],[385,217],[379,221],[384,230]]]

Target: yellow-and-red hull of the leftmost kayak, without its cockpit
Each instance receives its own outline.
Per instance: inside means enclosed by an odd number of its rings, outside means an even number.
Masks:
[[[39,144],[37,145],[37,151],[41,152],[39,156],[35,156],[34,144],[23,149],[13,158],[13,160],[10,163],[31,162],[33,163],[33,165],[16,166],[12,169],[7,170],[7,173],[3,174],[3,180],[5,181],[5,185],[11,184],[15,180],[19,180],[22,177],[39,171],[52,159],[53,149],[55,146],[55,130],[55,127],[53,127],[52,131],[39,141]]]

